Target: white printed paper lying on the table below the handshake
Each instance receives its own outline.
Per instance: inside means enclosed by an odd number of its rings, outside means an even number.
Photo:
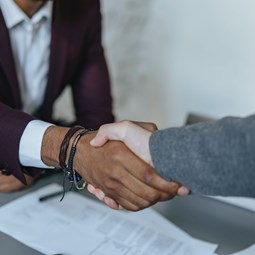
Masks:
[[[114,211],[104,204],[61,190],[57,184],[0,208],[0,231],[43,254],[63,255],[212,255],[217,245],[192,238],[153,209]]]

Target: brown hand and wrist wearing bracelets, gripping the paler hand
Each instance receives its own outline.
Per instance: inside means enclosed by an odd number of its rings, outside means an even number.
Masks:
[[[67,131],[67,128],[57,126],[47,129],[42,145],[44,163],[55,167],[59,165],[59,148]],[[161,178],[124,143],[109,141],[99,148],[91,146],[90,141],[95,135],[96,132],[90,132],[80,139],[74,168],[109,199],[122,208],[138,211],[176,195],[180,185]]]

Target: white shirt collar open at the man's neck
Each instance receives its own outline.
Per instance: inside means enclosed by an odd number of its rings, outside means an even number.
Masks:
[[[37,23],[42,18],[52,19],[53,1],[47,1],[31,19],[19,8],[14,0],[0,0],[0,8],[2,10],[5,23],[8,29],[11,29],[23,21]]]

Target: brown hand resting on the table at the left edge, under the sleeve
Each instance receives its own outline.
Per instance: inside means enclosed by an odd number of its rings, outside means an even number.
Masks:
[[[31,185],[34,182],[34,178],[32,176],[25,174],[25,178],[27,180],[27,185]],[[24,185],[13,175],[7,176],[0,172],[0,192],[16,191],[27,187],[27,185]]]

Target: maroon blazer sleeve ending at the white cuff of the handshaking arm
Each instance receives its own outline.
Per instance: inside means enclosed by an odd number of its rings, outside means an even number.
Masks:
[[[28,122],[33,117],[0,103],[0,169],[9,170],[26,183],[19,162],[19,142]]]

